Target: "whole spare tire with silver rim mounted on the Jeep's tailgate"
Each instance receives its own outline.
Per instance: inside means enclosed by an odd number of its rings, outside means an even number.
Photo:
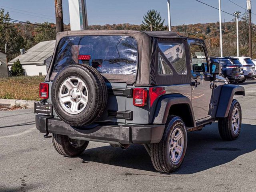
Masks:
[[[89,65],[71,64],[58,72],[52,83],[54,110],[71,126],[94,122],[105,110],[107,97],[103,77]]]

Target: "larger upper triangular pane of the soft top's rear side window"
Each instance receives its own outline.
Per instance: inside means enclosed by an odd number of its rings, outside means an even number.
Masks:
[[[179,75],[187,74],[184,44],[158,44],[164,56]]]

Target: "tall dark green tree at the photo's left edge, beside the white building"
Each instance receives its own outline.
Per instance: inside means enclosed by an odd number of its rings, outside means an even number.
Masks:
[[[0,50],[4,51],[4,44],[7,44],[9,60],[20,53],[20,48],[24,46],[24,39],[19,34],[18,28],[10,22],[10,16],[4,9],[0,9]]]

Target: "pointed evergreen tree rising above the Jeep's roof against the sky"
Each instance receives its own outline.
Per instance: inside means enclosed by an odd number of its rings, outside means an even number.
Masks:
[[[148,31],[165,31],[167,30],[167,26],[164,26],[164,20],[162,20],[162,17],[160,16],[160,12],[157,12],[156,10],[148,10],[147,14],[143,16],[144,21],[142,21],[141,28],[142,30]]]

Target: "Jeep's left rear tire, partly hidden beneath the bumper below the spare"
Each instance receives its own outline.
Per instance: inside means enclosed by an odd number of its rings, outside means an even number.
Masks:
[[[66,135],[52,134],[52,144],[59,154],[74,157],[84,152],[89,141],[72,140]]]

